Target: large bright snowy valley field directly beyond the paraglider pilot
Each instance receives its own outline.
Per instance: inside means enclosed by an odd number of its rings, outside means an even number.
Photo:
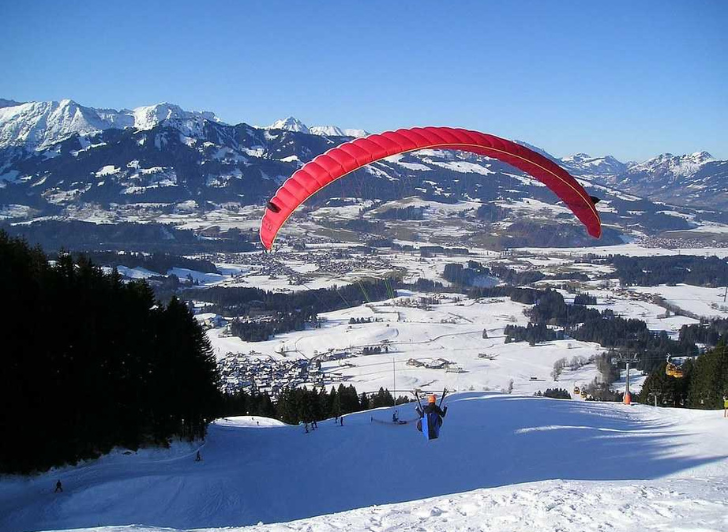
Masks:
[[[559,381],[551,376],[554,362],[561,358],[589,359],[604,351],[598,344],[576,340],[533,347],[526,342],[505,343],[504,327],[525,325],[528,318],[523,311],[528,305],[508,298],[475,301],[449,296],[428,310],[409,306],[426,295],[412,294],[321,314],[326,319],[323,328],[282,334],[267,342],[243,342],[224,336],[222,329],[209,330],[208,337],[218,357],[254,351],[254,358],[282,359],[282,352],[289,359],[312,358],[331,349],[349,351],[357,356],[324,362],[322,369],[329,378],[340,376],[359,392],[375,392],[380,387],[403,390],[405,395],[416,387],[500,391],[507,390],[512,382],[515,392],[532,394],[553,387],[571,389],[598,376],[594,364],[581,368],[578,374],[567,369]],[[372,322],[350,324],[352,318]],[[488,338],[483,338],[484,330]],[[367,346],[386,346],[388,351],[361,355]],[[423,364],[444,359],[462,371],[417,367],[412,359]]]

